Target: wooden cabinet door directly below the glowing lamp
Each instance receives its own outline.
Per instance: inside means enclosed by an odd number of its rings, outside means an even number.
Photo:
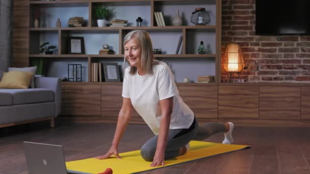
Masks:
[[[219,86],[219,118],[259,118],[259,86]]]

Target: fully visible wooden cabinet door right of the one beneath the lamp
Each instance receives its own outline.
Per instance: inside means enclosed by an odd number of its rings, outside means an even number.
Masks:
[[[299,86],[260,86],[260,119],[300,119]]]

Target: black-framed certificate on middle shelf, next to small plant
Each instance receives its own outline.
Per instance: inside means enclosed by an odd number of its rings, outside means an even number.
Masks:
[[[84,38],[69,37],[69,54],[85,54]]]

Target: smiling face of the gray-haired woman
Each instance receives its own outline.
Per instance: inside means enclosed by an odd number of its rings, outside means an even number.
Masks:
[[[130,66],[140,69],[141,66],[141,45],[136,39],[131,39],[124,45],[124,53]]]

